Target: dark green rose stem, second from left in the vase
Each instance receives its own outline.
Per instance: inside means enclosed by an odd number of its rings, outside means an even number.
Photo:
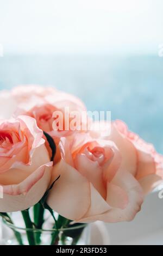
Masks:
[[[26,228],[33,229],[33,223],[30,220],[29,211],[28,210],[22,211],[22,216],[23,216],[24,222],[26,224]],[[36,242],[35,242],[34,232],[32,230],[27,230],[26,234],[27,234],[29,245],[35,245]]]

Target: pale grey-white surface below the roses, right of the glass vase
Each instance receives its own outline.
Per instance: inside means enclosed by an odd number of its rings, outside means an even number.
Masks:
[[[163,199],[149,194],[131,222],[106,224],[111,245],[163,245]]]

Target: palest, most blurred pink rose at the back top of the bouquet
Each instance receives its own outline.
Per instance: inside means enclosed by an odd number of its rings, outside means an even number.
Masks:
[[[12,90],[0,92],[1,108],[0,118],[10,118],[17,108],[21,111],[30,111],[37,106],[52,105],[57,109],[64,109],[65,106],[70,111],[85,111],[84,103],[78,97],[61,92],[53,87],[42,87],[38,85],[17,86]],[[6,106],[4,108],[4,106]],[[16,114],[18,114],[18,110]]]

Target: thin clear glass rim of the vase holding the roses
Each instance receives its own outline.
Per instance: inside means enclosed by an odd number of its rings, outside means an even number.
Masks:
[[[75,230],[79,228],[84,228],[86,227],[87,223],[77,223],[78,225],[73,226],[73,227],[68,227],[68,228],[49,228],[49,229],[37,229],[37,228],[22,228],[18,227],[17,225],[14,225],[12,223],[9,223],[7,220],[3,219],[3,223],[6,224],[9,228],[11,229],[18,229],[18,230],[24,230],[24,231],[34,231],[34,232],[53,232],[53,231],[67,231],[67,230]]]

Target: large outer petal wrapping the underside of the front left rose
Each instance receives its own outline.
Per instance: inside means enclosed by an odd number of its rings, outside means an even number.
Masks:
[[[27,179],[17,185],[3,186],[1,212],[26,210],[42,198],[51,179],[52,162],[39,167]]]

